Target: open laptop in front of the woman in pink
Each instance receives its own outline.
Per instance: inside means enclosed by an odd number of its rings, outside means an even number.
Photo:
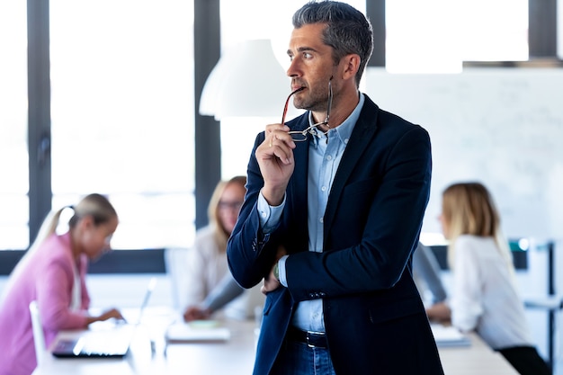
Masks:
[[[57,358],[123,358],[129,352],[135,328],[139,326],[155,286],[156,278],[152,278],[134,323],[116,323],[105,329],[85,330],[77,337],[60,338],[51,353]]]

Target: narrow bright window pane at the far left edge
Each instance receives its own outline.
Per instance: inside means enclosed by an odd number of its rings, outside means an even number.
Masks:
[[[0,2],[0,249],[29,245],[26,10]]]

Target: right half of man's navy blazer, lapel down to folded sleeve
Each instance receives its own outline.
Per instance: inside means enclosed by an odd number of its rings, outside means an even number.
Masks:
[[[390,290],[410,272],[429,198],[430,138],[389,112],[378,118],[371,137],[359,121],[346,147],[326,207],[324,252],[287,258],[295,300]]]

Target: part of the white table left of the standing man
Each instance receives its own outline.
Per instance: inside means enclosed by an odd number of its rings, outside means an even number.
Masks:
[[[32,375],[251,374],[255,357],[254,320],[226,320],[221,324],[230,329],[227,342],[166,345],[164,325],[143,323],[135,333],[130,353],[123,359],[58,359],[48,351]],[[79,331],[64,331],[58,338],[78,334]]]

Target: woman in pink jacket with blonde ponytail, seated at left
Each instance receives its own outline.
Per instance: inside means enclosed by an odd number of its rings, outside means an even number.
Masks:
[[[72,210],[67,230],[57,233],[63,210]],[[118,216],[103,195],[51,212],[35,242],[16,264],[0,300],[0,375],[29,375],[37,367],[29,305],[36,300],[49,346],[64,329],[122,319],[115,308],[90,316],[85,284],[88,263],[111,249]]]

